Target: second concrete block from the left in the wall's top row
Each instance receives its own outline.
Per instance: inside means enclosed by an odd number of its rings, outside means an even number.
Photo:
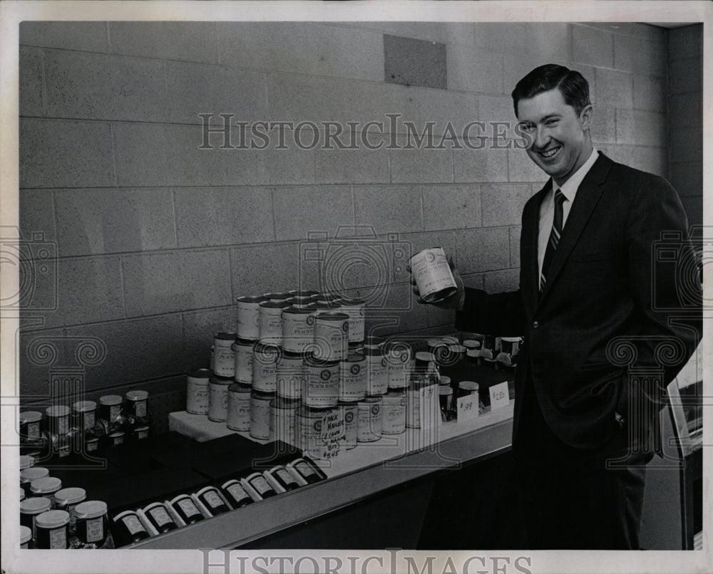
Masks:
[[[113,53],[217,63],[213,22],[109,22],[108,26]]]

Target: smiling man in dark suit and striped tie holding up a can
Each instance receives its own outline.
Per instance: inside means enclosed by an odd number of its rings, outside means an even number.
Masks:
[[[524,336],[513,456],[530,548],[638,548],[661,390],[700,331],[699,317],[657,311],[679,296],[652,247],[677,232],[679,257],[693,257],[687,219],[665,179],[595,150],[580,73],[535,68],[513,104],[530,159],[550,176],[523,210],[520,289],[464,288],[454,269],[458,291],[436,304],[456,309],[460,330]]]

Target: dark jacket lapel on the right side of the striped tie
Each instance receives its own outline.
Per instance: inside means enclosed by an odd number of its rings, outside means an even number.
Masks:
[[[602,184],[606,181],[611,166],[612,160],[600,154],[599,159],[597,159],[588,174],[585,175],[580,187],[577,189],[577,195],[570,209],[567,222],[562,230],[552,265],[547,274],[545,289],[539,297],[540,303],[550,292],[560,269],[562,269],[565,261],[567,261],[570,252],[587,225],[587,221],[589,221],[594,208],[597,206],[597,202],[599,202],[599,198],[604,191]]]

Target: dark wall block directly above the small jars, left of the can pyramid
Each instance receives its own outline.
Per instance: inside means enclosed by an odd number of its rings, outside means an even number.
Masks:
[[[96,367],[86,367],[87,390],[127,382],[145,383],[185,372],[178,314],[79,325],[68,329],[67,334],[98,337],[106,345],[106,358]]]

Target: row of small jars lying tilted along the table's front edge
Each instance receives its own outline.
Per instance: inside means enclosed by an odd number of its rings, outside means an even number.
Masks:
[[[116,543],[118,546],[137,543],[323,478],[311,460],[299,458],[242,479],[231,479],[220,486],[205,486],[193,494],[180,494],[169,501],[123,511],[112,520]]]

